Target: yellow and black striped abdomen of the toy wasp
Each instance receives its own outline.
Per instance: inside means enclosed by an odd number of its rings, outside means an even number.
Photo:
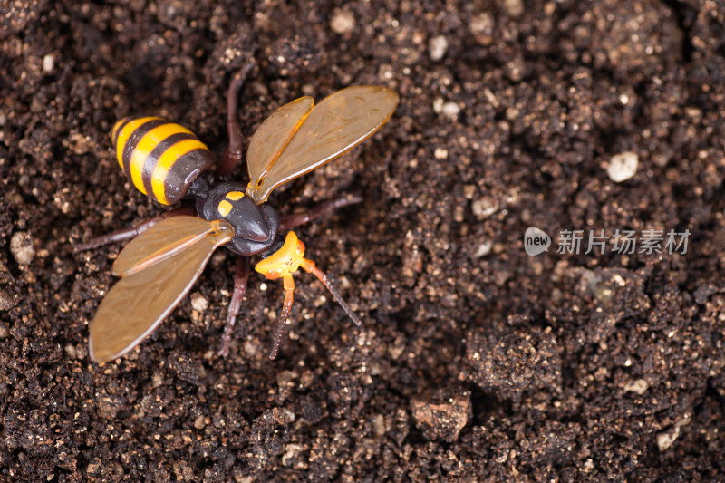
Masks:
[[[161,118],[126,118],[111,132],[121,169],[140,192],[164,205],[184,196],[213,164],[207,147],[188,129]]]

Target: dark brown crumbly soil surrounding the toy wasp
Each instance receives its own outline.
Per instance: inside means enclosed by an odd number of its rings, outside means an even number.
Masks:
[[[0,6],[0,480],[725,479],[724,2],[102,4]],[[219,154],[250,58],[247,135],[303,94],[401,94],[270,199],[364,194],[297,230],[364,327],[297,276],[269,362],[283,290],[255,273],[219,357],[220,250],[148,341],[92,363],[121,246],[68,246],[164,209],[118,168],[113,122],[160,114]],[[691,238],[559,254],[563,229]]]

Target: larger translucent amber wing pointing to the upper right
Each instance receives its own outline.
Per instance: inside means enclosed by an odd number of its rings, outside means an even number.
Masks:
[[[370,137],[390,119],[397,105],[398,94],[378,86],[348,87],[324,98],[306,118],[297,117],[302,121],[298,129],[292,128],[291,121],[285,124],[285,135],[292,131],[291,138],[275,143],[281,151],[276,156],[267,155],[266,169],[255,168],[255,173],[250,169],[247,194],[257,204],[263,203],[274,188],[337,158]],[[265,137],[274,138],[271,132],[265,132]],[[257,158],[258,152],[247,153],[249,166],[267,162]]]

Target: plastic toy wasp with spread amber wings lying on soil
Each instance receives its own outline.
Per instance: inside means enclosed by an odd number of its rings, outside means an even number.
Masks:
[[[247,65],[229,87],[227,131],[229,148],[214,179],[225,179],[241,161],[242,135],[237,121],[239,91]],[[306,213],[280,217],[266,204],[278,186],[337,158],[367,139],[390,119],[398,94],[384,87],[354,86],[334,92],[314,105],[301,97],[279,108],[262,123],[247,150],[249,184],[208,182],[198,175],[213,164],[211,153],[186,128],[156,117],[118,121],[111,133],[113,149],[126,175],[145,195],[164,204],[183,203],[162,217],[121,230],[74,251],[91,249],[133,237],[112,267],[121,280],[103,298],[91,323],[93,361],[105,362],[131,351],[147,337],[189,292],[218,246],[241,255],[229,304],[222,348],[227,355],[232,327],[247,290],[249,257],[262,256],[255,270],[268,279],[282,278],[285,302],[270,359],[275,359],[293,302],[299,267],[317,276],[344,311],[360,319],[314,262],[304,258],[304,243],[291,228],[333,209],[362,201],[334,200]],[[287,232],[284,242],[279,238]]]

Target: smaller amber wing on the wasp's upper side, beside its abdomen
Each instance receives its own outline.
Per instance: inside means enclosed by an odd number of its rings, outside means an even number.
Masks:
[[[249,140],[247,150],[249,179],[255,179],[256,183],[257,179],[266,174],[295,132],[300,129],[312,111],[313,105],[311,97],[301,97],[277,109],[262,122]]]

